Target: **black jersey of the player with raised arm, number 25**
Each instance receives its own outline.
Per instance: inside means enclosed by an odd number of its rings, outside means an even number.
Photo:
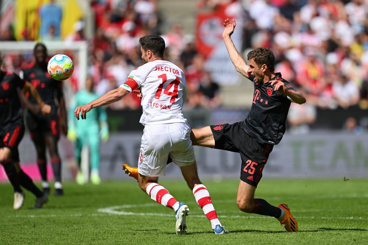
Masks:
[[[254,75],[248,73],[254,83],[254,96],[251,110],[244,120],[245,132],[259,143],[278,144],[286,130],[286,117],[291,101],[286,95],[275,91],[270,82],[257,84]],[[271,80],[282,81],[286,88],[295,91],[293,86],[281,77],[281,73]]]

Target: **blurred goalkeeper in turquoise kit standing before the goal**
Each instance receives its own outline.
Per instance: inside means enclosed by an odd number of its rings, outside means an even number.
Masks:
[[[89,146],[89,155],[91,162],[91,182],[92,184],[100,184],[100,153],[99,144],[100,137],[103,141],[109,140],[109,127],[107,125],[107,114],[103,107],[92,109],[88,114],[88,121],[75,120],[74,109],[78,106],[88,104],[96,100],[99,96],[93,92],[93,79],[88,77],[85,83],[85,90],[74,95],[74,99],[70,105],[68,114],[68,138],[75,142],[75,157],[77,158],[79,171],[76,181],[78,184],[84,184],[84,176],[81,172],[81,151],[84,145]]]

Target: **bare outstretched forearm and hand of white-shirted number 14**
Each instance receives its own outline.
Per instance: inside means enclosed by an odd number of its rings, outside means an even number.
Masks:
[[[129,93],[130,91],[123,89],[123,88],[117,88],[117,89],[111,90],[107,92],[106,94],[100,96],[96,100],[89,102],[86,105],[82,105],[82,106],[75,108],[74,117],[79,120],[79,113],[80,113],[81,118],[86,119],[86,113],[91,111],[93,108],[100,107],[103,105],[109,105],[113,102],[119,101]]]

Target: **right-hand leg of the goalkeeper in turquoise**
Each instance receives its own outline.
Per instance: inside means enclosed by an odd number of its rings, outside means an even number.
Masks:
[[[99,139],[99,131],[90,132],[88,134],[88,142],[89,142],[89,153],[90,153],[90,162],[91,162],[91,183],[92,184],[100,184],[101,178],[99,175],[100,170],[100,139]]]

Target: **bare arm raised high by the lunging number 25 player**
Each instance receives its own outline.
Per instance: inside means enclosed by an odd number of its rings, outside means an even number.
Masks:
[[[225,46],[227,48],[227,51],[229,52],[230,60],[233,62],[235,69],[240,72],[243,76],[248,78],[248,69],[249,66],[245,62],[244,58],[241,56],[241,54],[236,49],[233,40],[231,40],[231,35],[234,32],[236,23],[235,19],[233,19],[232,22],[230,22],[229,19],[225,19],[223,23],[225,29],[222,33],[222,39],[224,39]]]

